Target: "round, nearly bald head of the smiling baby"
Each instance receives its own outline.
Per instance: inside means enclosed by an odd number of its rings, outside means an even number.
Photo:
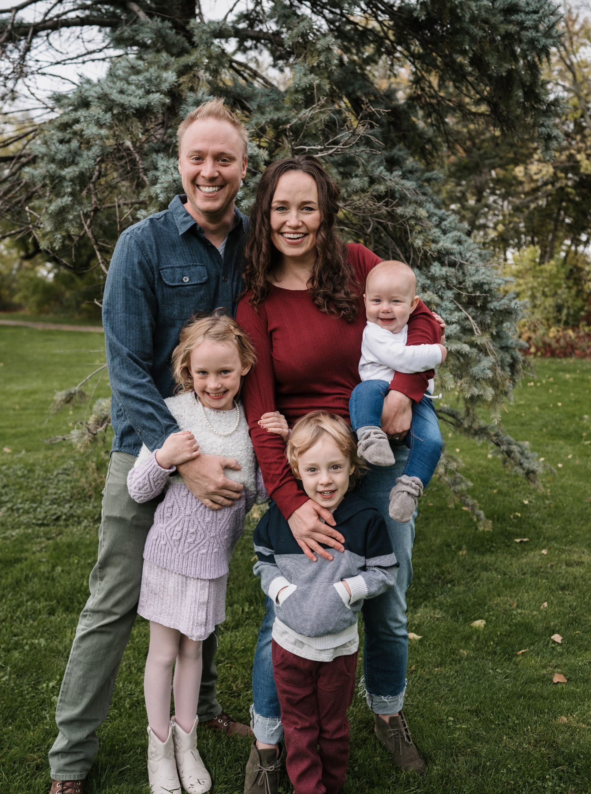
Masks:
[[[419,299],[413,271],[402,262],[381,262],[367,276],[366,318],[391,333],[401,331]]]

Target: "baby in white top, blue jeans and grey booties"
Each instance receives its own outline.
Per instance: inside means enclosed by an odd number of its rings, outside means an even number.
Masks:
[[[357,452],[375,466],[392,466],[394,456],[381,428],[384,397],[394,370],[426,372],[447,355],[445,323],[433,315],[432,344],[406,345],[407,323],[419,303],[415,274],[402,262],[381,262],[367,276],[365,295],[367,324],[363,331],[359,376],[349,402],[351,425],[357,434]],[[405,471],[390,492],[390,515],[410,521],[418,497],[427,487],[441,455],[441,434],[431,395],[433,381],[420,403],[413,405],[413,421],[405,444],[410,449]]]

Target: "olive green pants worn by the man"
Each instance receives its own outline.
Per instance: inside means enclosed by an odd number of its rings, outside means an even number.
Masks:
[[[86,777],[98,751],[97,728],[106,719],[117,669],[136,619],[140,597],[144,543],[152,526],[158,499],[133,501],[127,475],[136,461],[115,452],[107,472],[102,520],[98,532],[98,561],[90,573],[86,601],[56,708],[59,734],[49,752],[52,778]],[[216,634],[203,643],[203,676],[199,692],[199,722],[221,714],[216,700]]]

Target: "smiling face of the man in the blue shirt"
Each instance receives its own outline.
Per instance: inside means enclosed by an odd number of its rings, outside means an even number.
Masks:
[[[194,121],[182,137],[178,173],[197,222],[217,222],[232,206],[246,174],[246,156],[238,131],[216,118]]]

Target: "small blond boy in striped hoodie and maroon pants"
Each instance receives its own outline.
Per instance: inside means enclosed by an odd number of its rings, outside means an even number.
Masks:
[[[386,522],[349,492],[364,468],[355,446],[342,418],[314,411],[295,422],[286,447],[306,494],[334,513],[345,538],[342,554],[309,561],[272,502],[255,529],[254,572],[275,605],[273,674],[295,794],[338,794],[343,787],[357,615],[363,599],[396,583]]]

